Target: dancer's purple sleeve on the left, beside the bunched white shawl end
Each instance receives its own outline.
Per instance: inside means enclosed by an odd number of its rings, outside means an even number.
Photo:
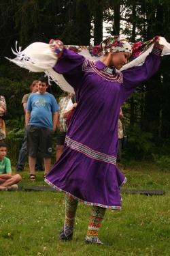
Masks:
[[[84,56],[64,48],[63,55],[58,59],[53,69],[57,73],[63,74],[66,81],[68,81],[74,89],[77,89],[82,83],[82,66],[84,60]]]

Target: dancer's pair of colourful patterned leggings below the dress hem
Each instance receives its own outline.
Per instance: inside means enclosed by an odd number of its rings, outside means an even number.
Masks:
[[[73,199],[70,195],[65,197],[65,227],[73,229],[75,214],[78,208],[78,200]],[[105,208],[92,206],[90,222],[88,223],[87,237],[94,238],[98,236],[101,221],[105,215]]]

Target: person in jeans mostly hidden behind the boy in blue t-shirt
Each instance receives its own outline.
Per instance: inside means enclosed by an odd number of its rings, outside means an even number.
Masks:
[[[34,80],[33,83],[31,83],[29,88],[30,88],[31,92],[29,94],[24,94],[24,96],[22,98],[24,113],[26,111],[26,106],[27,106],[27,101],[29,99],[29,96],[32,93],[35,93],[35,92],[38,91],[38,81]],[[24,165],[25,165],[26,160],[27,160],[27,130],[25,129],[24,139],[22,141],[22,147],[20,149],[20,153],[19,153],[19,157],[18,157],[18,163],[16,165],[16,170],[17,171],[23,171],[24,170]],[[36,162],[36,165],[35,165],[36,170],[43,170],[42,160],[43,159],[39,156],[39,154],[37,154],[37,162]]]

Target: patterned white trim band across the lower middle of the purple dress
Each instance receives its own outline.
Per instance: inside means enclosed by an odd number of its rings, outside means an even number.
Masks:
[[[115,156],[109,156],[107,154],[92,150],[90,149],[90,147],[87,147],[86,145],[78,141],[73,141],[73,139],[70,139],[69,136],[65,137],[65,143],[68,147],[71,147],[73,150],[77,150],[78,152],[81,152],[82,154],[85,154],[86,156],[92,159],[100,160],[103,162],[109,162],[110,164],[116,165]]]

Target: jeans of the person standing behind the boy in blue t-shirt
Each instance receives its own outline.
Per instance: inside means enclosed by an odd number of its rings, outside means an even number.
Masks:
[[[27,130],[24,130],[24,139],[22,141],[22,147],[20,149],[16,169],[24,169],[25,162],[27,161],[27,156]],[[39,154],[37,154],[35,169],[43,170],[42,162],[43,158],[39,156]]]

